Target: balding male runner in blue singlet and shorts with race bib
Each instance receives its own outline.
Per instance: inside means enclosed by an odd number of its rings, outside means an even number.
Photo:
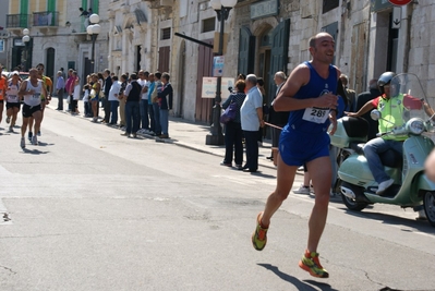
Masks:
[[[321,265],[317,247],[325,229],[331,183],[329,134],[337,128],[337,81],[340,71],[331,65],[335,53],[334,38],[319,33],[310,38],[311,61],[299,64],[290,74],[274,102],[276,111],[291,111],[281,132],[277,170],[277,186],[267,198],[264,211],[256,218],[252,234],[254,248],[266,246],[270,218],[288,197],[298,167],[306,162],[314,185],[315,201],[309,219],[309,240],[299,266],[311,276],[328,278]]]

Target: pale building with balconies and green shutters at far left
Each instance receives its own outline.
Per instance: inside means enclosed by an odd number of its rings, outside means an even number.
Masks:
[[[11,0],[7,15],[8,66],[27,69],[41,62],[46,74],[56,75],[60,68],[77,70],[80,76],[108,66],[108,16],[109,0]],[[78,8],[92,9],[100,14],[101,32],[95,44],[95,69],[92,64],[92,41],[86,33],[85,16]],[[22,41],[23,29],[29,31],[29,41]]]

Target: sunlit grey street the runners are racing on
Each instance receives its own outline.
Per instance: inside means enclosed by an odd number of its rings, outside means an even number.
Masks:
[[[237,171],[204,153],[223,153],[205,136],[203,150],[126,138],[52,108],[23,150],[4,119],[0,290],[435,290],[435,229],[412,209],[354,214],[333,197],[318,250],[330,278],[317,279],[298,266],[314,196],[291,193],[265,250],[252,246],[273,167]],[[169,132],[181,143],[178,129],[193,141],[197,128],[177,120]]]

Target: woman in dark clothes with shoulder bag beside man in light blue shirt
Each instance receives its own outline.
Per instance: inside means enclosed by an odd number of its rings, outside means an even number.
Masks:
[[[225,129],[225,159],[221,166],[232,166],[232,153],[234,151],[234,161],[238,169],[242,168],[243,162],[243,144],[242,144],[242,125],[240,123],[240,108],[243,105],[245,83],[243,80],[235,82],[235,92],[222,104],[222,108],[227,109],[231,102],[237,104],[237,113],[234,120],[229,121]]]

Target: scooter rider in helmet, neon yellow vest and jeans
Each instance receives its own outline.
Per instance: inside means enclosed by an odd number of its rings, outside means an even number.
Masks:
[[[399,94],[397,96],[391,96],[391,93],[395,94],[395,92],[390,88],[390,82],[395,76],[396,73],[394,72],[383,73],[377,81],[382,95],[367,101],[358,112],[346,112],[346,114],[349,117],[360,117],[377,108],[382,112],[379,133],[386,133],[388,129],[401,126],[401,117],[403,112],[402,99],[404,95]],[[398,98],[397,104],[391,102],[391,97],[395,97],[395,99]],[[385,172],[379,155],[388,149],[394,149],[402,155],[402,143],[404,140],[407,140],[407,136],[383,135],[371,140],[364,145],[364,156],[367,159],[367,165],[372,171],[373,178],[378,184],[376,191],[378,195],[382,195],[395,182],[395,180]]]

